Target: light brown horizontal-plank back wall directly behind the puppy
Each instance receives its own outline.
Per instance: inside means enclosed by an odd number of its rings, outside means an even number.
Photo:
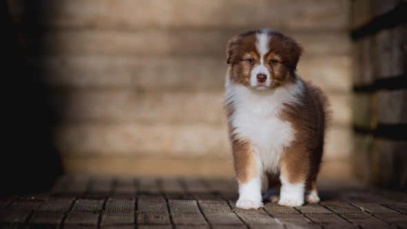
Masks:
[[[298,72],[332,103],[324,175],[350,175],[348,1],[9,2],[20,26],[32,23],[26,12],[38,16],[40,36],[21,37],[36,47],[30,63],[52,91],[66,170],[232,175],[222,105],[226,41],[270,27],[304,46]]]

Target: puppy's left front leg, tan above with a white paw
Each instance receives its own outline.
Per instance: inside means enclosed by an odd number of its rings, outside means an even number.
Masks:
[[[250,146],[249,141],[232,143],[235,159],[235,172],[239,183],[239,199],[236,207],[257,209],[263,207],[261,201],[261,168],[259,158]]]

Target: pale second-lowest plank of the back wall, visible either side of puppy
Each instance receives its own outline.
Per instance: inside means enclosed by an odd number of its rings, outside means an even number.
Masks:
[[[346,126],[328,129],[325,159],[347,158],[350,155],[350,137],[351,130]],[[57,147],[64,155],[230,155],[226,125],[75,124],[59,127],[56,139]]]

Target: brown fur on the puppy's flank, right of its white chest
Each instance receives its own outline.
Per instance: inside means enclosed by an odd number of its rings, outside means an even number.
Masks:
[[[301,80],[301,79],[297,79]],[[317,179],[322,152],[324,150],[324,135],[326,121],[328,119],[328,101],[321,90],[310,83],[304,83],[304,94],[299,98],[301,101],[295,106],[286,105],[281,117],[292,123],[295,130],[295,141],[292,147],[285,150],[281,155],[281,163],[294,165],[301,169],[291,169],[290,173],[306,174],[307,183]],[[299,160],[301,159],[301,160]],[[292,160],[292,161],[287,161]],[[302,164],[306,163],[308,166]],[[303,170],[307,168],[306,170]],[[290,175],[292,179],[301,175]]]

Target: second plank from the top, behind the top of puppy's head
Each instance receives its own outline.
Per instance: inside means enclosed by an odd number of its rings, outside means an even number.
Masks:
[[[242,30],[57,30],[43,34],[39,54],[136,55],[225,57],[228,39]],[[306,55],[349,54],[345,32],[288,32],[306,50]]]

